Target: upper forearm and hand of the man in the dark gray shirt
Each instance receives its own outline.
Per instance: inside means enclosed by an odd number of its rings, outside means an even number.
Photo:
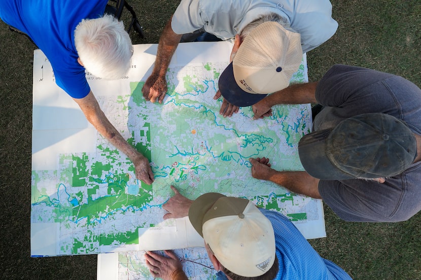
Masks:
[[[252,106],[254,119],[266,116],[271,107],[277,104],[306,104],[317,103],[315,90],[319,82],[295,84],[288,88],[269,94]]]

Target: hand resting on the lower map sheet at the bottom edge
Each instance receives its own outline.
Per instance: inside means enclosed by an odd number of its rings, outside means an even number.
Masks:
[[[152,276],[164,280],[182,280],[187,279],[183,271],[183,266],[179,258],[172,251],[164,251],[168,257],[164,257],[153,252],[145,254],[146,266],[149,268]]]

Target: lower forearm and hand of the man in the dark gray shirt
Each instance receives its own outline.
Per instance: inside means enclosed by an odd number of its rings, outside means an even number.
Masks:
[[[265,157],[250,158],[250,163],[253,178],[271,181],[295,193],[322,198],[319,193],[320,180],[305,171],[276,171],[270,168],[269,159]]]

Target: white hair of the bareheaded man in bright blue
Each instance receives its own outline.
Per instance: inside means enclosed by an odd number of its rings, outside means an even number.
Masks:
[[[75,29],[75,45],[86,70],[104,79],[123,77],[130,67],[133,47],[123,22],[104,14],[83,19]]]

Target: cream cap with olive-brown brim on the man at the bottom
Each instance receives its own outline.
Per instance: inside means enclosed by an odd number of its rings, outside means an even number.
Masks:
[[[272,267],[272,224],[248,199],[203,194],[191,205],[189,219],[218,261],[233,273],[256,277]]]

